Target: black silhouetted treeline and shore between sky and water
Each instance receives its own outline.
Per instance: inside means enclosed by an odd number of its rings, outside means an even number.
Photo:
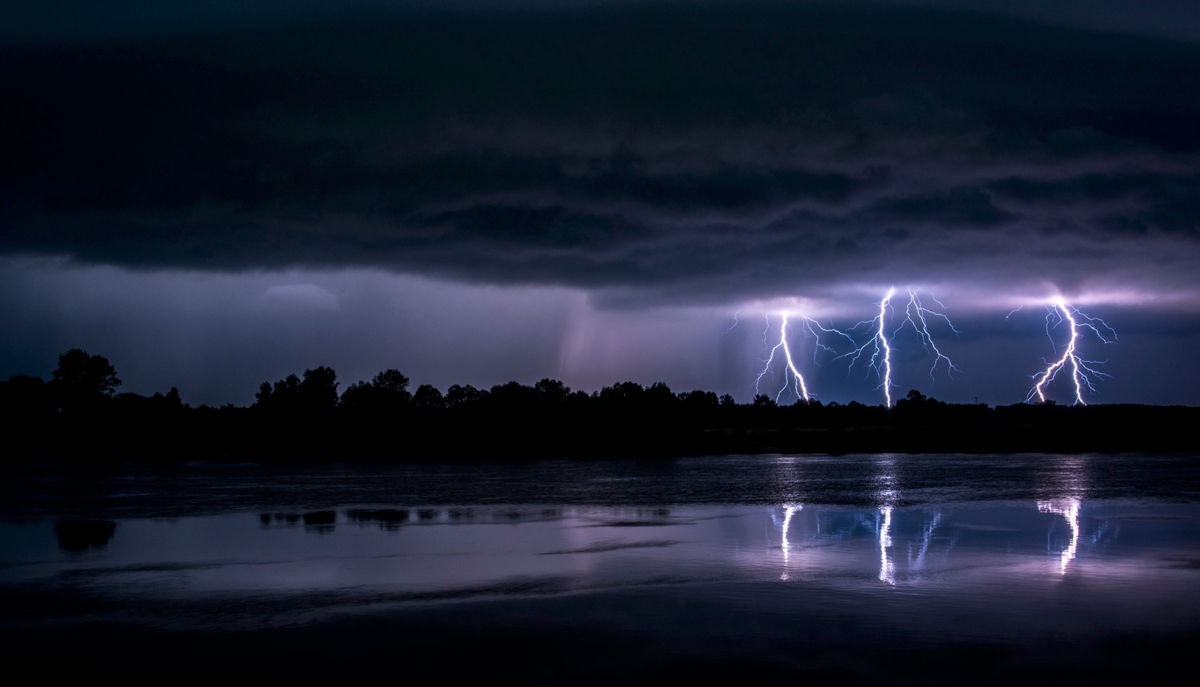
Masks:
[[[1052,402],[946,404],[910,390],[894,407],[674,393],[557,380],[443,394],[384,370],[338,393],[325,366],[264,382],[248,407],[191,407],[179,390],[118,393],[102,356],[71,350],[49,381],[0,382],[10,460],[443,460],[730,453],[1180,452],[1200,408]]]

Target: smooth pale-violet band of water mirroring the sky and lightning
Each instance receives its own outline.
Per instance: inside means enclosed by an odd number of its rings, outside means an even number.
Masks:
[[[1180,563],[1200,560],[1200,507],[1079,498],[239,513],[97,524],[91,530],[110,539],[90,548],[62,544],[65,525],[0,527],[0,583],[70,581],[76,592],[140,599],[269,595],[282,603],[324,592],[330,605],[358,605],[667,583],[938,595],[1064,577],[1093,585],[1200,581]]]

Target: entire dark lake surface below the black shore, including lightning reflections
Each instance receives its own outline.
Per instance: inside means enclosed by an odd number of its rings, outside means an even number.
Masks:
[[[0,639],[148,679],[1128,683],[1200,646],[1198,484],[1178,455],[25,466]]]

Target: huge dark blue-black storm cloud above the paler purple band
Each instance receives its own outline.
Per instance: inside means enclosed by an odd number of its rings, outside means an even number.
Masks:
[[[1196,267],[1200,44],[866,4],[148,34],[0,48],[0,250],[610,304]]]

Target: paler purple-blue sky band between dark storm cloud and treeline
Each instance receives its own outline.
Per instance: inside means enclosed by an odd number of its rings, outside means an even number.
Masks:
[[[898,392],[916,388],[955,402],[1022,400],[1028,375],[1054,354],[1045,311],[1027,306],[1006,319],[1003,311],[970,311],[956,294],[941,295],[961,334],[940,322],[931,331],[961,372],[948,377],[942,364],[930,375],[932,357],[905,328],[893,337]],[[878,294],[844,304],[870,310],[872,298]],[[889,329],[900,324],[900,310]],[[1099,368],[1112,375],[1088,402],[1200,402],[1193,383],[1200,359],[1192,354],[1200,322],[1146,309],[1088,311],[1120,334],[1110,346],[1093,337],[1081,342],[1088,359],[1105,360]],[[569,289],[466,286],[383,271],[204,274],[0,261],[0,378],[48,377],[59,353],[82,347],[112,360],[125,382],[120,390],[178,387],[193,405],[250,404],[263,381],[317,365],[336,369],[343,388],[397,368],[414,384],[443,390],[553,377],[592,392],[632,380],[748,401],[779,336],[778,313],[772,311],[768,333],[764,315],[739,311],[733,325],[734,312],[725,309],[596,310]],[[857,316],[830,311],[822,319],[848,327]],[[803,329],[791,334],[796,363],[817,399],[882,402],[878,380],[862,363],[850,369],[847,359],[816,351]],[[827,344],[847,350],[844,341]],[[776,365],[761,390],[779,392],[781,375]],[[1068,387],[1055,384],[1052,398],[1068,402]]]

